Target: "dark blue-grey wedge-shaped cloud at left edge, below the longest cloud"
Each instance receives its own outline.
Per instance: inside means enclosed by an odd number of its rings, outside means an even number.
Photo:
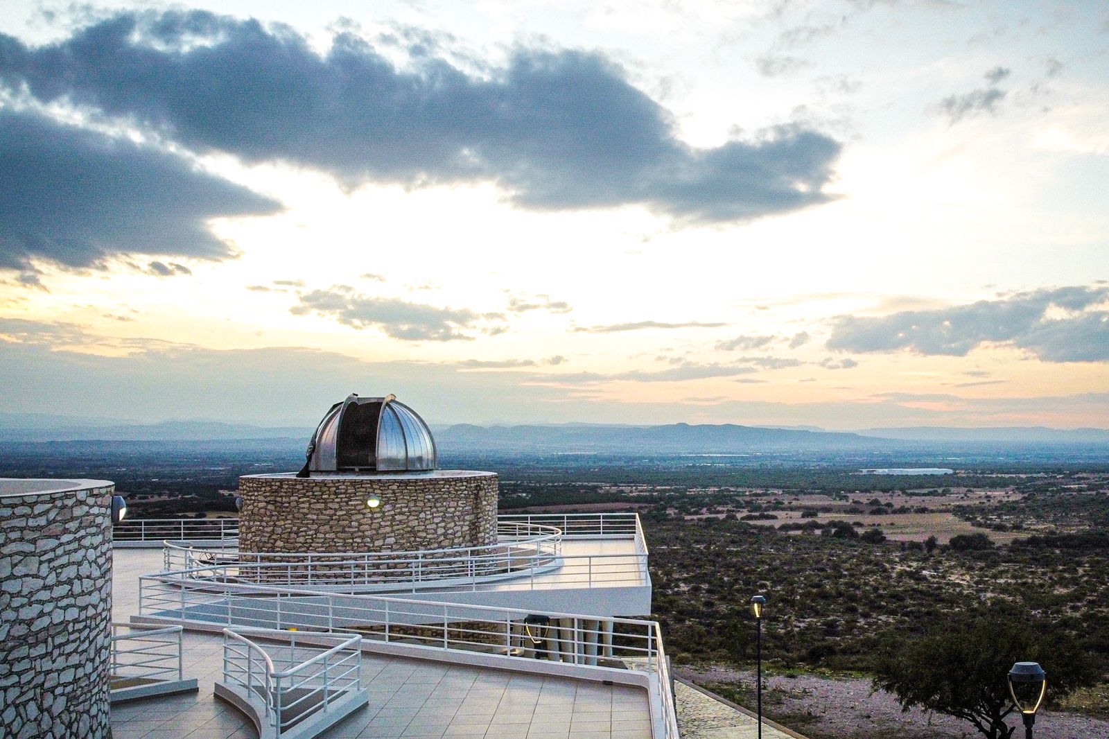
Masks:
[[[11,109],[0,110],[0,269],[24,271],[118,254],[223,259],[208,219],[278,209],[179,156]],[[149,271],[187,273],[157,261]]]

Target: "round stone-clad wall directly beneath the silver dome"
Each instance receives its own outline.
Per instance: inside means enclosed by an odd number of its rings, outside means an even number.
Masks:
[[[335,474],[238,478],[241,551],[414,551],[497,543],[497,475]],[[370,508],[366,500],[380,498]]]

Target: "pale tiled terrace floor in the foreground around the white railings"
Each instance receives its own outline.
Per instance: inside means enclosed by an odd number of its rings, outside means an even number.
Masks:
[[[138,578],[161,569],[156,549],[115,549],[113,614],[139,609]],[[215,700],[223,639],[185,632],[185,676],[200,692],[136,701],[112,709],[114,739],[254,737],[250,721]],[[325,737],[466,737],[472,739],[650,739],[644,690],[507,670],[366,655],[369,705]]]

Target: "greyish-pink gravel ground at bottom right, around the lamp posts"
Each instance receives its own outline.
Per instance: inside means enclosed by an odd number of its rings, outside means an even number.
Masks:
[[[754,674],[726,667],[675,667],[674,672],[698,684],[735,682],[754,685]],[[764,707],[767,690],[785,695],[784,702],[769,713],[811,713],[814,720],[790,728],[814,737],[828,739],[970,739],[981,737],[964,721],[922,710],[903,713],[897,700],[885,691],[871,695],[871,681],[862,678],[834,680],[801,676],[764,678]],[[750,707],[749,707],[750,708]],[[1010,720],[1010,726],[1013,721]],[[1020,730],[1014,735],[1022,737]],[[1036,739],[1107,739],[1109,721],[1078,713],[1040,711],[1036,720]]]

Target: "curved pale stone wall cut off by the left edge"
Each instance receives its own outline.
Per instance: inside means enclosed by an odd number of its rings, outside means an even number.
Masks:
[[[113,490],[0,479],[0,736],[111,736]]]

